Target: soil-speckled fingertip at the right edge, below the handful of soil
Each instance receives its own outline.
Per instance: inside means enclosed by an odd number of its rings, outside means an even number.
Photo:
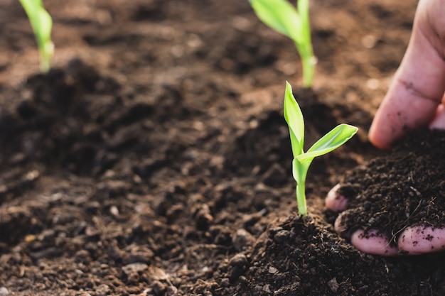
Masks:
[[[398,241],[400,251],[409,255],[434,253],[445,250],[445,229],[432,227],[407,227]]]

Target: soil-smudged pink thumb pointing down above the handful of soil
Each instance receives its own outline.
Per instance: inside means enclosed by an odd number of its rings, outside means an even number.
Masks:
[[[419,2],[407,52],[370,127],[370,141],[378,148],[390,148],[408,131],[427,126],[444,95],[445,29],[441,14],[445,12],[430,4]],[[434,28],[434,20],[441,31]]]

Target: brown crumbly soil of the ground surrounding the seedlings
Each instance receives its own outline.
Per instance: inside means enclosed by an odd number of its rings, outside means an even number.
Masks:
[[[416,1],[311,1],[313,91],[248,1],[44,2],[47,75],[20,4],[0,1],[0,295],[444,295],[443,254],[366,255],[323,207],[346,171],[387,155],[366,133]],[[286,80],[306,147],[360,128],[314,160],[307,219]]]

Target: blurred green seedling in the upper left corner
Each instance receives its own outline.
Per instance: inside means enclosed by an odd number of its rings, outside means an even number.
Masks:
[[[28,15],[34,35],[36,36],[38,52],[40,54],[40,67],[42,72],[50,70],[51,57],[54,45],[51,41],[51,28],[53,19],[43,8],[41,0],[20,0],[23,9]]]

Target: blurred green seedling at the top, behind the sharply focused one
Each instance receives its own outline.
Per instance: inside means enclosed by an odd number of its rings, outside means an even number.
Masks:
[[[294,41],[301,57],[304,87],[311,88],[316,57],[311,43],[309,0],[298,0],[297,8],[287,0],[249,1],[263,23]]]

